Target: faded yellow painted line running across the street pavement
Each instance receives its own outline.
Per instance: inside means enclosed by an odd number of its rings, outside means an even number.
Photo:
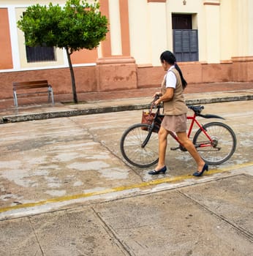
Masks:
[[[205,176],[210,176],[212,174],[215,173],[224,173],[230,170],[235,170],[235,169],[240,169],[243,167],[249,167],[249,166],[253,166],[253,162],[246,162],[244,164],[240,164],[240,165],[233,165],[230,167],[225,167],[222,169],[213,169],[213,170],[209,170],[208,172],[205,172]],[[35,206],[43,206],[46,205],[48,203],[60,203],[60,202],[64,202],[64,201],[69,201],[69,200],[75,200],[75,199],[80,199],[80,198],[86,198],[86,197],[92,197],[92,196],[96,196],[96,195],[105,195],[111,192],[121,192],[124,190],[129,190],[129,189],[139,189],[142,187],[148,187],[148,186],[154,186],[154,185],[159,185],[159,184],[163,184],[163,183],[170,183],[170,182],[178,182],[178,181],[184,181],[186,179],[189,178],[197,178],[194,177],[192,175],[183,175],[183,176],[175,176],[175,177],[167,177],[167,178],[159,178],[156,179],[154,181],[146,181],[146,182],[142,182],[140,184],[132,184],[129,186],[122,186],[122,187],[115,187],[112,189],[105,189],[102,191],[97,191],[97,192],[90,192],[90,193],[84,193],[84,194],[77,194],[77,195],[67,195],[64,197],[56,197],[56,198],[51,198],[48,200],[42,200],[39,202],[35,202],[35,203],[23,203],[17,206],[9,206],[9,207],[4,207],[4,208],[0,208],[0,213],[4,212],[4,211],[12,211],[15,209],[19,209],[19,208],[29,208],[29,207],[35,207]]]

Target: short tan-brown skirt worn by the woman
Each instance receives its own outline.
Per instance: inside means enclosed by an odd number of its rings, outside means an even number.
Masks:
[[[162,127],[167,131],[186,132],[187,118],[186,114],[179,116],[165,116],[162,120]]]

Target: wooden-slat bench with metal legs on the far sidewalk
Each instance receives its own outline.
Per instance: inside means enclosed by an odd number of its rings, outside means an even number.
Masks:
[[[48,80],[13,83],[13,99],[16,107],[18,107],[18,96],[29,96],[31,94],[48,94],[48,102],[51,98],[52,103],[54,103],[53,88],[48,84]]]

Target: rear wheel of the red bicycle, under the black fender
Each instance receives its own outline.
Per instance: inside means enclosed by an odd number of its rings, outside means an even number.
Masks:
[[[210,143],[201,129],[198,129],[192,143],[197,148],[202,159],[208,165],[220,165],[226,162],[235,152],[236,136],[233,129],[227,124],[220,122],[211,122],[203,125],[203,128],[212,138],[213,143],[211,146],[203,146]],[[201,145],[203,147],[201,147]]]

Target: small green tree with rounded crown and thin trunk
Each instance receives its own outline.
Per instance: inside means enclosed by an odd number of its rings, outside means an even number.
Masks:
[[[26,45],[64,48],[67,52],[74,102],[78,103],[71,54],[76,50],[97,48],[105,39],[108,20],[99,12],[99,2],[68,0],[64,7],[50,3],[28,7],[18,20]]]

